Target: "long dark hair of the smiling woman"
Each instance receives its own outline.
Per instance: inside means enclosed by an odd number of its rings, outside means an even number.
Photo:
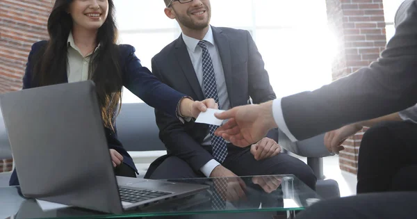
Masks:
[[[38,86],[63,83],[67,72],[67,39],[72,17],[67,13],[72,0],[56,0],[48,19],[49,42],[35,55],[33,76]],[[117,108],[122,99],[122,72],[119,66],[115,6],[108,0],[108,17],[97,32],[100,44],[90,58],[89,79],[95,82],[104,126],[114,131]],[[119,107],[117,107],[119,106]]]

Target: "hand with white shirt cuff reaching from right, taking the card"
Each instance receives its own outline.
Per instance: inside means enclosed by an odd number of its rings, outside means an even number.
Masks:
[[[276,128],[272,115],[272,101],[264,104],[238,106],[223,113],[215,113],[226,123],[215,131],[215,135],[238,147],[247,147],[261,140],[270,129]]]

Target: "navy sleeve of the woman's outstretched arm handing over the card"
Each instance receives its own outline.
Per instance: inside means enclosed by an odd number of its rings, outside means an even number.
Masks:
[[[134,47],[121,45],[120,50],[124,58],[123,85],[149,106],[176,117],[179,101],[186,95],[165,85],[147,67],[142,67]]]

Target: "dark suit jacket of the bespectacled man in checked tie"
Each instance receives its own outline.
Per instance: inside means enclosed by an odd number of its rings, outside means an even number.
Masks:
[[[255,104],[275,99],[268,72],[264,69],[261,54],[250,33],[214,26],[212,29],[222,60],[231,106],[245,105],[250,97]],[[204,99],[181,35],[152,58],[152,72],[163,83],[179,92],[196,100]],[[155,111],[155,115],[160,130],[159,137],[167,147],[167,156],[178,156],[196,171],[213,159],[213,156],[201,145],[208,133],[208,125],[195,122],[182,124],[179,120],[174,120],[158,110]],[[154,168],[167,156],[152,163],[145,177],[149,177]]]

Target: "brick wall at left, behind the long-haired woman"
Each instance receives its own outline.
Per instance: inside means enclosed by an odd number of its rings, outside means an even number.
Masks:
[[[0,1],[0,93],[22,88],[22,76],[31,45],[49,38],[47,19],[54,0]],[[12,168],[0,160],[0,172]]]

